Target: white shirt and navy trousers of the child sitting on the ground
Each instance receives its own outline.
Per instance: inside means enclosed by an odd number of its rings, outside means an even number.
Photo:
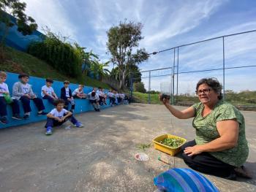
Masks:
[[[63,118],[65,115],[67,115],[68,111],[65,109],[62,109],[60,112],[55,108],[50,111],[50,114],[53,115],[56,118]],[[74,116],[70,116],[68,118],[65,118],[63,121],[59,122],[58,120],[55,120],[53,118],[47,118],[45,128],[53,127],[53,126],[61,126],[63,123],[65,123],[67,120],[70,120],[71,123],[76,124],[78,123],[78,120],[74,118]]]

